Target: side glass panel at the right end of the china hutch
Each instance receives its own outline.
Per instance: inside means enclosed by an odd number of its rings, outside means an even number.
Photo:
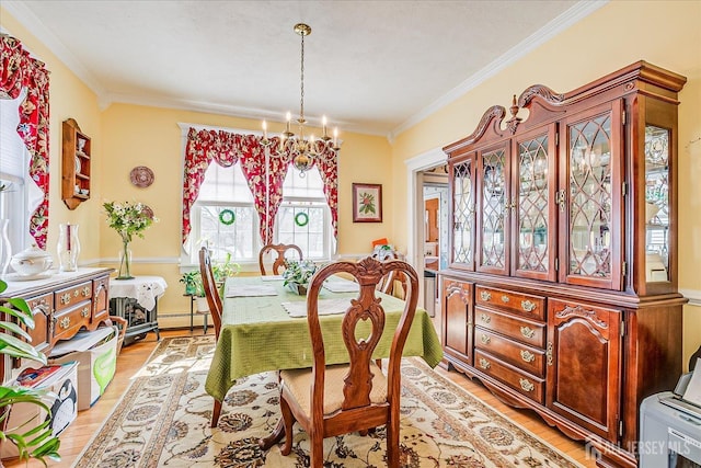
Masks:
[[[645,281],[669,281],[669,130],[645,127]]]

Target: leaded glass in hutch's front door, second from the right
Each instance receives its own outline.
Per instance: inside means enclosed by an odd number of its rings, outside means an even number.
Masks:
[[[548,271],[548,136],[518,145],[518,270]]]

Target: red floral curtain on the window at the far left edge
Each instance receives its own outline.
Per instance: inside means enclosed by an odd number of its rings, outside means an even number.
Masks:
[[[0,99],[16,99],[26,88],[26,98],[18,110],[18,134],[32,155],[28,173],[44,199],[30,219],[30,235],[46,249],[48,233],[48,70],[30,57],[20,41],[0,34]]]

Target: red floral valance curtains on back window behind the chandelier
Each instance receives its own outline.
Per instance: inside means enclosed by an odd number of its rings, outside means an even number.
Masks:
[[[283,183],[294,155],[279,151],[279,139],[272,138],[268,151],[261,137],[231,134],[225,130],[196,130],[189,128],[185,147],[183,178],[183,244],[192,229],[189,210],[199,195],[199,186],[211,161],[227,168],[241,162],[243,175],[253,194],[261,221],[261,241],[273,242],[275,216],[283,202]],[[324,194],[331,208],[334,236],[337,237],[337,163],[333,151],[324,151],[315,160],[324,183]]]

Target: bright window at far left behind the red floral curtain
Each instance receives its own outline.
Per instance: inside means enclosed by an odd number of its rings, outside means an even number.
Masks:
[[[28,175],[28,158],[24,141],[18,135],[18,107],[25,92],[18,99],[0,99],[0,219],[10,219],[8,237],[12,253],[30,246],[30,216],[43,199],[43,194]]]

